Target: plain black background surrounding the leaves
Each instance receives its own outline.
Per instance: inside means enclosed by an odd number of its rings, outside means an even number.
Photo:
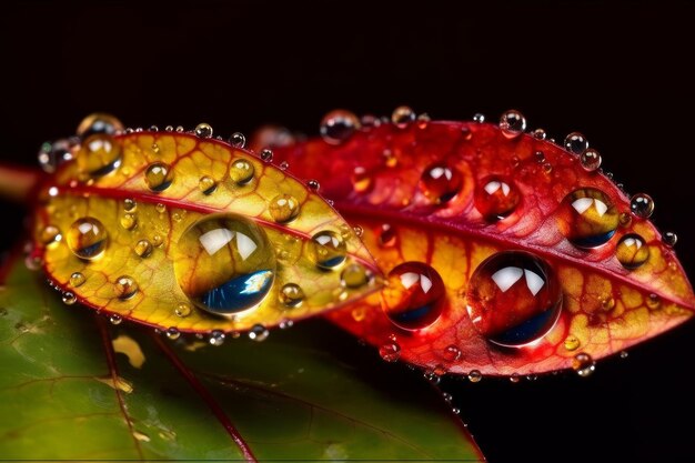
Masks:
[[[694,274],[693,3],[370,3],[4,2],[0,159],[33,164],[95,110],[229,134],[315,133],[336,107],[488,120],[516,108],[558,139],[582,131],[628,191],[651,193]],[[7,249],[23,212],[1,208]],[[585,380],[444,387],[491,462],[695,461],[694,335],[688,323]]]

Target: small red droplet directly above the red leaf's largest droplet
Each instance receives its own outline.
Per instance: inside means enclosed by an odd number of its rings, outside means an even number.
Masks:
[[[492,175],[477,184],[473,202],[486,221],[495,222],[514,212],[521,202],[521,193],[512,181]]]

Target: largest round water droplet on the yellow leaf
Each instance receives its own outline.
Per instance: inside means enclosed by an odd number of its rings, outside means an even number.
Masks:
[[[255,308],[275,278],[275,253],[268,235],[240,215],[201,219],[173,250],[179,286],[195,306],[213,314]]]

